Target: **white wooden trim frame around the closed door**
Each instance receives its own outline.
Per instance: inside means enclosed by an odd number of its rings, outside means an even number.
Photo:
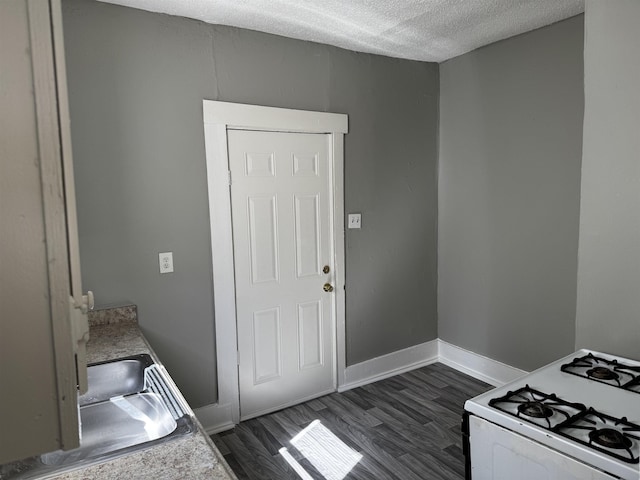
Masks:
[[[220,417],[237,424],[240,421],[240,389],[227,131],[261,130],[329,135],[330,223],[336,285],[332,343],[338,387],[344,383],[346,368],[344,135],[348,132],[348,116],[203,100],[203,119],[213,269],[217,407]]]

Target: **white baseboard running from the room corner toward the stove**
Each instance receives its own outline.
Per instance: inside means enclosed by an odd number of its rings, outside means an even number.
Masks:
[[[495,387],[528,373],[439,339],[438,361]]]

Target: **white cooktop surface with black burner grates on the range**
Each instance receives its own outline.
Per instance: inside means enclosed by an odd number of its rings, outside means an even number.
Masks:
[[[640,478],[640,362],[580,350],[465,411],[617,478]],[[598,477],[599,478],[599,477]]]

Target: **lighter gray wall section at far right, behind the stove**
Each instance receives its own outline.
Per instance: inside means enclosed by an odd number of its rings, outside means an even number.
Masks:
[[[577,344],[640,360],[640,2],[588,0]]]

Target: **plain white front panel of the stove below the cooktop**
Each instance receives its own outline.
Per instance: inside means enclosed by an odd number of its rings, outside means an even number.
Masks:
[[[472,480],[618,478],[475,415],[468,422]]]

